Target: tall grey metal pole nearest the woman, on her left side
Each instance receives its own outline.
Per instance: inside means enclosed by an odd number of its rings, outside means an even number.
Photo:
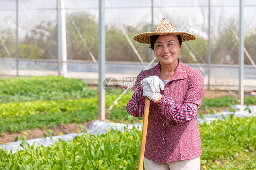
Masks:
[[[103,89],[103,81],[105,79],[105,53],[106,53],[106,37],[105,37],[105,0],[99,0],[99,110],[98,116],[100,120],[105,120],[105,90]]]

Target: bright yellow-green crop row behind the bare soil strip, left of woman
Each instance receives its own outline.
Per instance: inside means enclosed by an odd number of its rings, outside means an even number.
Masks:
[[[107,95],[106,107],[112,105],[118,96]],[[130,97],[131,94],[123,95],[123,98],[111,112],[118,113],[120,106],[126,105],[126,100]],[[125,112],[125,115],[132,117],[127,112]],[[61,125],[61,123],[84,123],[97,119],[97,116],[97,97],[77,100],[0,103],[0,134],[5,131],[20,132],[32,128],[43,129],[46,125],[54,128],[56,125]]]

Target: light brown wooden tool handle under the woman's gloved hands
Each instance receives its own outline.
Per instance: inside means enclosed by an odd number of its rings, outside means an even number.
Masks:
[[[143,118],[143,126],[142,126],[142,135],[141,135],[141,144],[140,144],[140,153],[139,153],[139,162],[138,162],[138,170],[143,170],[145,145],[146,145],[146,137],[147,137],[147,129],[148,129],[149,106],[150,106],[150,100],[148,99],[148,97],[146,97],[144,118]]]

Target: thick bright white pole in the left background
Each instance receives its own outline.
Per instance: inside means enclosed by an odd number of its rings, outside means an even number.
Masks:
[[[61,0],[61,54],[62,76],[67,77],[67,43],[66,43],[66,10],[65,0]]]

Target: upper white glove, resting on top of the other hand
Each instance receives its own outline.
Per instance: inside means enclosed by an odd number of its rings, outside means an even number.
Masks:
[[[152,92],[160,93],[160,88],[164,90],[164,84],[158,76],[150,76],[141,81],[141,87],[143,88],[145,85],[149,85]]]

